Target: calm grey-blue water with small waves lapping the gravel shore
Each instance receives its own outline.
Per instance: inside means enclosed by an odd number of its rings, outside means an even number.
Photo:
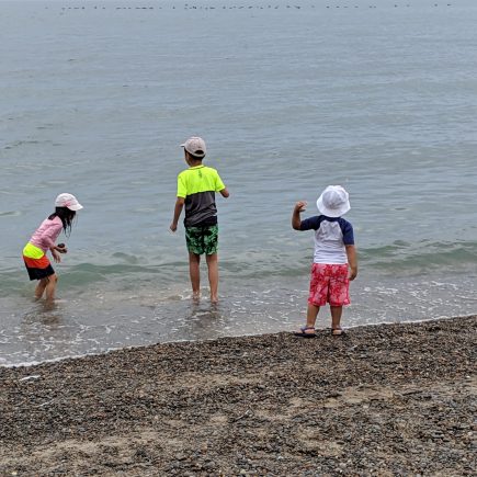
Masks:
[[[328,184],[359,250],[345,326],[477,313],[476,24],[473,0],[0,2],[0,365],[294,329],[291,214]],[[191,135],[230,191],[217,307],[168,231]],[[46,309],[21,250],[60,192],[84,209]]]

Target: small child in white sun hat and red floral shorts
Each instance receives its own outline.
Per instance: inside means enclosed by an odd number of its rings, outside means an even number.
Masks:
[[[315,322],[321,306],[330,304],[331,334],[341,337],[343,305],[350,304],[350,280],[357,275],[357,260],[352,225],[342,218],[350,209],[348,192],[341,185],[329,185],[318,197],[321,215],[300,219],[306,202],[297,202],[293,211],[295,230],[315,230],[315,253],[311,265],[306,326],[295,334],[315,338]]]

